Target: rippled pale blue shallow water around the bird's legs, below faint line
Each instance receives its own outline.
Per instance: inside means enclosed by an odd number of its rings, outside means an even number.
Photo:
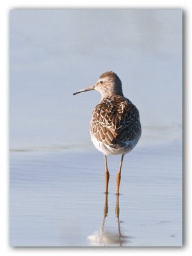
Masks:
[[[11,152],[12,246],[181,246],[182,146],[138,147],[108,157],[88,149]]]

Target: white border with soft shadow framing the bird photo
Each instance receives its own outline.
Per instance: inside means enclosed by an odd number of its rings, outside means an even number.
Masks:
[[[192,216],[191,202],[189,202],[189,193],[191,186],[189,184],[191,177],[191,161],[189,162],[189,145],[191,145],[191,136],[189,132],[191,129],[191,81],[189,65],[191,60],[191,51],[189,45],[191,44],[191,1],[171,1],[171,0],[134,0],[134,1],[106,1],[106,0],[93,0],[81,1],[78,0],[28,0],[28,1],[1,1],[0,4],[0,31],[1,31],[1,47],[0,47],[0,63],[1,63],[1,83],[0,83],[0,111],[1,111],[1,132],[0,132],[0,199],[1,199],[1,218],[0,218],[0,232],[1,232],[1,246],[0,253],[6,255],[67,255],[78,253],[78,255],[97,255],[98,253],[110,253],[116,255],[161,255],[161,253],[169,256],[189,255],[192,251],[192,243],[189,241],[191,220]],[[184,12],[184,84],[183,84],[183,100],[184,100],[184,246],[182,248],[65,248],[65,247],[49,247],[49,248],[11,248],[9,246],[9,10],[13,8],[42,8],[42,9],[60,9],[60,8],[139,8],[139,9],[182,9]],[[189,31],[190,30],[190,31]],[[190,72],[190,74],[189,74]],[[189,84],[189,86],[188,86]],[[189,120],[189,121],[188,121]]]

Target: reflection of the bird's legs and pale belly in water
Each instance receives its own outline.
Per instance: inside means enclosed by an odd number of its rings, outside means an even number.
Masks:
[[[105,221],[106,217],[108,216],[108,194],[106,193],[102,227],[100,230],[95,231],[92,236],[87,237],[90,246],[123,246],[124,244],[131,243],[131,236],[122,235],[119,213],[119,195],[116,195],[115,216],[117,220],[118,231],[116,232],[115,230],[111,230],[111,228],[106,228]]]

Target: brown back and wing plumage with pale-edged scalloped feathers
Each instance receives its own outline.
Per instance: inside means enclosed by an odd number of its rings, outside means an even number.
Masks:
[[[90,131],[97,140],[110,147],[125,147],[129,141],[140,138],[138,109],[125,97],[108,97],[93,110]]]

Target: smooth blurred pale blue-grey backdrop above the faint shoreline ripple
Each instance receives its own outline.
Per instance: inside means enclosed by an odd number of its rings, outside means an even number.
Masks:
[[[182,138],[181,10],[11,10],[10,148],[92,147],[98,92],[113,70],[140,111],[138,147]]]

